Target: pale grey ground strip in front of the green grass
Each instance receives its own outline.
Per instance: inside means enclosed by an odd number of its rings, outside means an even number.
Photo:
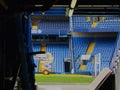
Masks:
[[[87,90],[89,84],[39,83],[37,90]]]

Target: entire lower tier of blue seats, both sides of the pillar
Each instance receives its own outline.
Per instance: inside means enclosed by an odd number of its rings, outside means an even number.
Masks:
[[[101,70],[105,67],[110,68],[110,63],[115,50],[116,38],[83,38],[73,37],[73,58],[75,64],[75,73],[94,72],[95,55],[101,54]],[[34,51],[40,51],[40,45],[33,46]],[[41,46],[42,50],[42,46]],[[51,63],[52,72],[64,73],[64,59],[70,58],[68,44],[47,44],[46,53],[51,53],[54,61]],[[81,63],[81,56],[90,54],[90,59],[85,65]],[[39,69],[40,60],[35,59],[37,69]],[[40,70],[35,69],[36,72]]]

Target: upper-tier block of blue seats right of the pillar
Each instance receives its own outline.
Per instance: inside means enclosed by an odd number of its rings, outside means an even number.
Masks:
[[[90,16],[90,21],[87,16],[73,16],[73,31],[74,32],[117,32],[120,31],[120,19],[118,16],[103,16],[104,19],[98,20],[93,24],[93,17]]]

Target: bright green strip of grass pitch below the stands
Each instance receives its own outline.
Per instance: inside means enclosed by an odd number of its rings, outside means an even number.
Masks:
[[[91,83],[94,78],[77,74],[36,74],[36,82]]]

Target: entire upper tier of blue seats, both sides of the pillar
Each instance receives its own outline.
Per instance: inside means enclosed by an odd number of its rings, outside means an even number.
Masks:
[[[32,34],[67,34],[70,32],[70,21],[63,16],[41,16]],[[118,32],[119,16],[73,16],[73,32]]]

